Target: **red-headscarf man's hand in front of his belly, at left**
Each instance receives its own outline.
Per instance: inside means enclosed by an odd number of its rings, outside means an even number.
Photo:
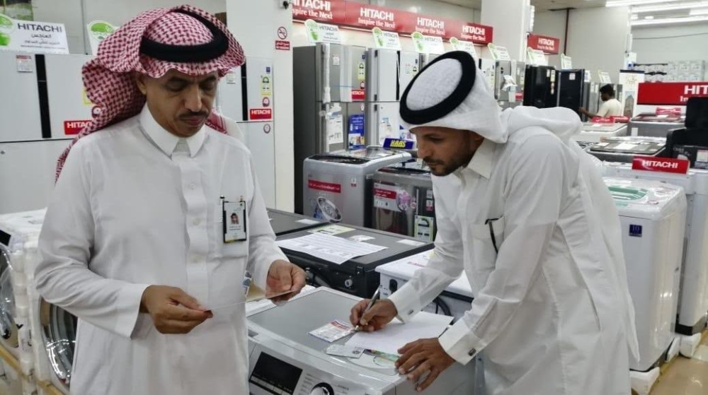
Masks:
[[[188,334],[213,317],[205,307],[180,288],[150,285],[140,300],[140,312],[147,312],[161,334]]]

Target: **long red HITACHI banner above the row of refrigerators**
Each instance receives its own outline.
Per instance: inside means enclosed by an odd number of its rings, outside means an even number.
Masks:
[[[493,29],[490,26],[426,16],[354,1],[293,0],[292,18],[295,20],[312,19],[366,30],[379,28],[406,35],[418,32],[445,39],[457,37],[459,40],[483,45],[489,44],[493,39]]]

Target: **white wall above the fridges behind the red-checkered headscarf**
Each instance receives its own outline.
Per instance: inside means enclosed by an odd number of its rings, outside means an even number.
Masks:
[[[89,50],[85,42],[86,23],[91,20],[100,19],[122,25],[142,11],[186,3],[210,13],[219,13],[226,11],[226,1],[241,0],[33,0],[32,8],[35,20],[64,23],[69,51],[84,54]]]

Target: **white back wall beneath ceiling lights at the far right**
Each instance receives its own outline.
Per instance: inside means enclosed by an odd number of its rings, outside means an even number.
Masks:
[[[704,60],[708,64],[708,24],[635,26],[632,52],[637,63]],[[704,81],[708,81],[708,69]]]

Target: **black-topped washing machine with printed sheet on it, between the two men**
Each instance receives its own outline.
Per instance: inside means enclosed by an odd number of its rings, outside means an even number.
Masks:
[[[353,257],[342,264],[335,264],[305,252],[280,246],[289,261],[304,269],[309,284],[334,288],[359,297],[371,297],[379,286],[377,266],[433,249],[432,242],[423,242],[413,239],[413,237],[396,235],[382,230],[341,224],[325,225],[319,228],[290,233],[278,237],[276,242],[303,237],[312,233],[331,235],[345,240],[367,242],[386,247],[379,252]]]

